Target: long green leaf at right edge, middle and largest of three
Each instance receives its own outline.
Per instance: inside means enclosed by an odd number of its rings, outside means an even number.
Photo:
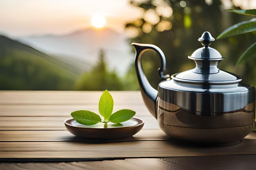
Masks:
[[[239,22],[227,28],[217,37],[217,39],[232,37],[235,35],[249,33],[252,31],[256,31],[256,18],[253,18],[252,20],[249,20],[249,21]]]

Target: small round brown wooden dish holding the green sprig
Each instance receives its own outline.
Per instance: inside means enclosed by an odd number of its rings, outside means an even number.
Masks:
[[[67,130],[77,137],[92,138],[92,139],[118,139],[135,135],[144,126],[144,121],[137,118],[132,118],[122,124],[107,124],[98,123],[92,126],[79,124],[74,119],[65,121]]]

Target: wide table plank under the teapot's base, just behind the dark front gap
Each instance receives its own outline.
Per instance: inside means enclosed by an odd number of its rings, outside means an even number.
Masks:
[[[0,158],[138,158],[210,155],[255,155],[256,141],[243,140],[227,147],[202,147],[177,141],[131,141],[91,144],[83,142],[1,142]]]

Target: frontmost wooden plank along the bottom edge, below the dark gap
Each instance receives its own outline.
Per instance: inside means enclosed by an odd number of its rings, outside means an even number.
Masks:
[[[253,170],[256,155],[204,157],[136,158],[124,160],[60,162],[60,163],[0,163],[1,170]]]

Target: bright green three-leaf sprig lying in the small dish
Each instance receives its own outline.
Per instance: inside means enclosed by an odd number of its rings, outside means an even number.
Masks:
[[[71,116],[79,123],[83,125],[94,125],[97,123],[108,123],[109,121],[115,124],[120,124],[124,121],[131,119],[135,115],[135,111],[129,109],[118,110],[113,113],[114,100],[110,93],[106,90],[99,99],[99,113],[104,117],[101,117],[96,113],[89,110],[77,110],[71,113]]]

